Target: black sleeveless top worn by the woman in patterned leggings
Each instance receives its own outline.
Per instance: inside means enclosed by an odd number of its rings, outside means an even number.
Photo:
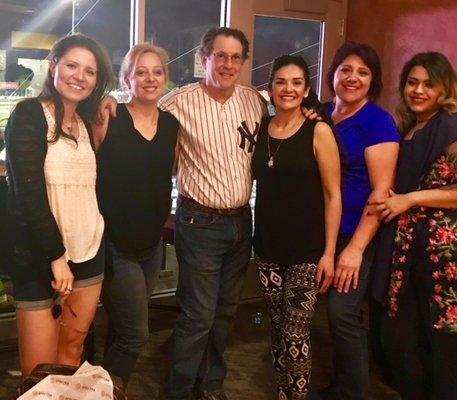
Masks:
[[[313,151],[317,121],[306,120],[282,141],[270,137],[272,167],[268,166],[269,122],[269,117],[262,121],[252,164],[254,252],[278,264],[317,263],[325,248],[324,196]]]

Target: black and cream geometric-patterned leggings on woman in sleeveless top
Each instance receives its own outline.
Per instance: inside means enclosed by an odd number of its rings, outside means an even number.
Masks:
[[[256,257],[271,320],[279,400],[304,400],[311,375],[310,325],[317,302],[315,264],[279,265]]]

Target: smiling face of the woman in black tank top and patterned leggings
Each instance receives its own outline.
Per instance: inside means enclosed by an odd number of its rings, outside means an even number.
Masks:
[[[295,110],[308,96],[304,71],[297,65],[289,64],[279,68],[274,75],[271,90],[268,91],[277,110]]]

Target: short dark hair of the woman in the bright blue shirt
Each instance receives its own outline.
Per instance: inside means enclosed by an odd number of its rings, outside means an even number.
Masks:
[[[379,60],[375,49],[373,49],[373,47],[369,46],[368,44],[346,42],[336,51],[327,72],[328,88],[332,94],[335,95],[335,89],[333,87],[333,78],[335,76],[335,71],[341,65],[341,63],[351,55],[359,56],[370,69],[371,84],[370,89],[368,90],[368,98],[370,100],[376,100],[382,91],[381,61]]]

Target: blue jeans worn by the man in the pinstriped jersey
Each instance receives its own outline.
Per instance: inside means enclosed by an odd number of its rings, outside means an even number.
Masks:
[[[181,312],[173,331],[168,398],[189,398],[197,378],[202,390],[221,388],[224,350],[251,257],[251,236],[249,207],[239,216],[226,216],[178,203],[175,246]]]

